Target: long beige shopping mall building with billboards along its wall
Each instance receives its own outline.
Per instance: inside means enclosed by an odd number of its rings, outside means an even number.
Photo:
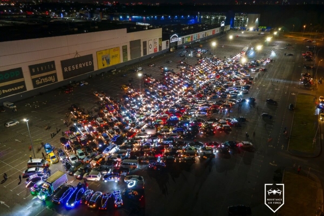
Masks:
[[[140,62],[228,31],[230,26],[136,23],[119,29],[0,42],[0,104]]]

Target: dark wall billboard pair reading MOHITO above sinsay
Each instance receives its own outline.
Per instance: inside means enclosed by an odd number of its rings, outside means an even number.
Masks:
[[[28,68],[34,88],[57,82],[55,61],[29,65]]]

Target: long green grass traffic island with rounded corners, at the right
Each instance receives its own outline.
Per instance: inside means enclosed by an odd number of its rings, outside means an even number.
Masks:
[[[315,115],[315,99],[313,95],[309,94],[297,95],[288,144],[288,152],[293,155],[311,158],[320,154],[320,139],[316,137],[319,123],[318,115]]]

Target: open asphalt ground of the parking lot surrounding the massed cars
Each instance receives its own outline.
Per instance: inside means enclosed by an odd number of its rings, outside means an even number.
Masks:
[[[293,164],[300,164],[301,167],[312,167],[312,172],[317,174],[321,181],[324,176],[321,170],[323,159],[298,158],[287,152],[288,139],[282,135],[285,127],[290,131],[294,112],[288,110],[290,103],[295,103],[298,93],[310,93],[319,96],[323,92],[321,85],[318,90],[303,90],[298,88],[300,73],[306,69],[302,67],[301,54],[306,50],[305,42],[301,39],[291,39],[284,36],[272,38],[273,41],[267,45],[265,38],[268,35],[258,35],[255,33],[241,32],[232,41],[227,39],[229,34],[224,34],[222,38],[217,36],[213,40],[203,42],[203,48],[212,52],[211,43],[216,41],[217,45],[214,54],[217,56],[227,56],[240,53],[243,47],[263,45],[262,50],[247,53],[247,59],[259,59],[270,57],[275,61],[266,65],[267,72],[251,73],[257,80],[243,98],[255,97],[256,106],[242,107],[241,111],[234,108],[231,116],[246,117],[248,122],[243,123],[242,128],[233,128],[230,134],[217,133],[215,136],[197,138],[198,141],[226,141],[244,140],[245,133],[249,134],[250,141],[256,147],[255,152],[238,151],[231,154],[230,158],[216,156],[210,161],[199,161],[190,167],[174,166],[168,168],[169,172],[161,174],[152,173],[142,164],[139,169],[132,171],[144,177],[146,208],[138,214],[132,213],[128,207],[119,210],[109,211],[110,215],[227,215],[227,207],[230,205],[249,205],[253,215],[272,216],[273,213],[264,204],[264,184],[273,183],[273,173],[275,170],[283,170],[285,167],[292,167]],[[285,56],[288,53],[283,49],[286,43],[293,44],[289,53],[294,56]],[[221,48],[224,45],[224,48]],[[196,45],[194,45],[196,46]],[[271,54],[272,51],[275,54]],[[179,52],[181,52],[179,50]],[[179,54],[165,54],[140,63],[143,73],[152,74],[155,79],[161,79],[159,66],[173,68],[175,72],[177,61],[182,59]],[[172,63],[166,63],[172,60]],[[196,57],[186,60],[189,64],[196,63]],[[155,62],[157,67],[148,67],[148,63]],[[5,216],[57,216],[69,215],[77,216],[93,214],[94,211],[87,210],[85,206],[79,206],[73,210],[67,210],[62,206],[39,201],[30,195],[29,189],[25,188],[24,180],[19,183],[18,176],[26,169],[26,162],[29,160],[28,146],[30,140],[27,125],[22,121],[29,119],[29,128],[34,143],[40,141],[50,142],[55,147],[59,147],[60,133],[51,138],[51,133],[56,132],[56,127],[60,131],[67,128],[63,125],[67,108],[71,104],[84,107],[85,110],[97,107],[97,98],[93,91],[103,90],[113,97],[123,95],[120,90],[121,84],[128,84],[128,80],[134,78],[134,85],[139,85],[136,74],[129,73],[128,70],[137,65],[128,66],[122,73],[128,73],[127,77],[121,74],[98,76],[87,80],[89,85],[79,86],[73,93],[61,94],[59,90],[44,93],[34,98],[23,100],[17,103],[17,112],[7,110],[0,115],[0,125],[10,119],[19,120],[20,124],[12,128],[1,126],[0,136],[0,173],[5,172],[7,181],[1,183],[1,203],[0,215]],[[321,70],[323,73],[323,70]],[[260,75],[259,75],[260,74]],[[323,75],[321,75],[323,76]],[[142,85],[144,83],[142,82]],[[136,87],[136,86],[135,86]],[[265,101],[271,98],[278,102],[277,106],[268,105]],[[267,112],[273,116],[272,119],[264,119],[261,113]],[[216,117],[222,117],[216,114]],[[71,117],[71,116],[70,116]],[[69,117],[69,118],[70,118]],[[46,128],[50,128],[46,130]],[[253,137],[253,132],[255,136]],[[269,141],[270,140],[270,141]],[[41,157],[41,152],[37,151],[39,144],[35,144],[36,158]],[[52,173],[62,170],[60,163],[51,166]],[[69,177],[71,184],[78,181]],[[112,189],[125,188],[121,183],[90,183],[89,188],[95,191],[108,192]],[[5,204],[5,205],[4,205]],[[104,212],[95,214],[103,215]]]

